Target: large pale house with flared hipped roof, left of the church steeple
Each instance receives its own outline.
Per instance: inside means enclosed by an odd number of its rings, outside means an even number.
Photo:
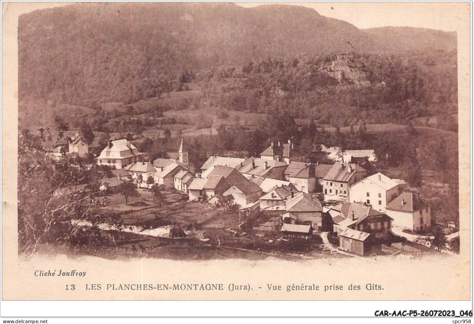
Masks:
[[[141,161],[143,154],[126,139],[110,141],[97,157],[98,165],[108,165],[116,169],[125,168],[128,164]]]

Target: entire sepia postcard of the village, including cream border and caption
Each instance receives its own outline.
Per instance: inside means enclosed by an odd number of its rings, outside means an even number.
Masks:
[[[49,285],[2,299],[471,298],[469,3],[2,5],[22,9],[9,267]],[[167,275],[137,286],[137,263]]]

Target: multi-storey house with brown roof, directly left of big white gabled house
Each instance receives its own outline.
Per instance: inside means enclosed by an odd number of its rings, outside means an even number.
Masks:
[[[367,170],[352,163],[336,162],[324,176],[323,191],[327,200],[349,200],[349,187],[367,176]]]

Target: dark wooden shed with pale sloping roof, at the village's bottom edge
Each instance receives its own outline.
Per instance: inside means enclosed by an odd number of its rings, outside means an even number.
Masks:
[[[380,252],[381,244],[374,234],[346,228],[339,233],[339,248],[359,256],[367,256]]]

